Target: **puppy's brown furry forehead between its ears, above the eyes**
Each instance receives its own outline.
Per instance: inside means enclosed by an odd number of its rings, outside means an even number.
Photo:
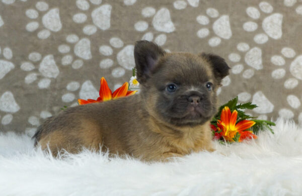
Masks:
[[[161,82],[181,84],[199,84],[213,80],[209,63],[202,57],[189,53],[172,53],[164,56],[159,62]]]

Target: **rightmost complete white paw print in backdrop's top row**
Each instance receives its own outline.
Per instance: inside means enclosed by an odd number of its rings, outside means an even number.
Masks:
[[[259,8],[262,11],[258,10],[256,7],[248,7],[246,9],[247,15],[251,18],[251,21],[248,21],[243,24],[243,29],[246,32],[254,32],[258,29],[257,23],[254,20],[259,20],[260,18],[265,17],[262,20],[262,29],[264,33],[260,33],[254,36],[254,42],[257,44],[264,44],[268,41],[268,38],[280,39],[282,37],[282,20],[283,15],[280,13],[274,13],[273,7],[267,2],[261,2]],[[263,17],[261,17],[263,15]],[[266,16],[269,15],[269,16]]]

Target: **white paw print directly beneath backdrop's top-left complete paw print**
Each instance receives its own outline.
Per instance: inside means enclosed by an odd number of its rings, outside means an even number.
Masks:
[[[55,79],[60,73],[53,55],[46,55],[42,59],[40,53],[32,52],[28,55],[28,59],[29,61],[24,61],[20,65],[21,70],[30,72],[24,79],[25,83],[32,84],[38,77],[42,76],[42,79],[38,82],[38,88],[48,88],[51,83],[51,78]],[[35,66],[37,63],[39,63],[38,67]],[[39,73],[37,71],[39,71]]]

